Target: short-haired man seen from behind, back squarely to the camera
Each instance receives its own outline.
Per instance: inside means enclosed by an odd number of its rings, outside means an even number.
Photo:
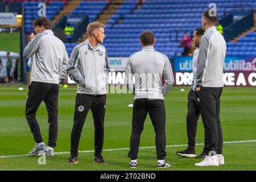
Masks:
[[[139,142],[147,113],[150,115],[155,129],[156,154],[158,162],[156,167],[171,167],[166,163],[166,110],[164,95],[174,84],[174,75],[170,60],[166,55],[154,50],[155,36],[151,31],[141,34],[142,51],[130,56],[125,83],[134,94],[132,132],[130,137],[129,158],[130,167],[137,167]],[[133,76],[135,84],[133,84]],[[162,86],[162,76],[165,83]]]

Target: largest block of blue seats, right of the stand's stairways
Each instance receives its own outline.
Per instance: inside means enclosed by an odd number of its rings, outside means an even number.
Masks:
[[[155,32],[155,49],[168,57],[181,56],[183,48],[178,42],[185,32],[192,35],[196,27],[201,27],[201,14],[211,1],[156,1],[147,0],[141,9],[123,11],[122,22],[110,20],[106,26],[104,45],[109,56],[130,56],[139,51],[139,34],[149,29]],[[218,0],[218,16],[221,19],[236,6],[251,6],[254,1]],[[120,9],[119,11],[122,12]],[[128,13],[126,13],[128,12]],[[185,13],[184,13],[185,12]],[[118,36],[117,36],[118,35]]]

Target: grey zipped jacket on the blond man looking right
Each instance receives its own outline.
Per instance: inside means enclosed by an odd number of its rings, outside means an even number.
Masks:
[[[101,44],[92,48],[87,39],[73,48],[67,72],[71,80],[78,84],[77,93],[106,94],[109,71],[108,54]]]

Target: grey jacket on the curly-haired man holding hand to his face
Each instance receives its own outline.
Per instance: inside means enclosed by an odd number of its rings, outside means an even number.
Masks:
[[[64,43],[51,30],[45,30],[30,40],[24,48],[23,57],[31,57],[34,53],[31,82],[59,84],[61,79],[66,78],[68,54]]]

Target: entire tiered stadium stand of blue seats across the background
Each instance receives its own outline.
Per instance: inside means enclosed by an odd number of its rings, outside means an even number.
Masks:
[[[19,2],[15,0],[14,2]],[[3,1],[2,1],[3,2]],[[36,6],[41,1],[24,1],[27,34],[32,30],[32,20],[37,18]],[[201,27],[201,13],[208,8],[210,0],[123,0],[123,1],[47,1],[47,17],[54,19],[56,14],[68,14],[72,17],[89,15],[89,22],[97,20],[105,23],[106,39],[104,46],[111,57],[127,57],[139,51],[139,34],[149,29],[155,33],[155,49],[168,57],[181,56],[183,48],[179,40],[184,33],[192,36],[196,27]],[[115,3],[114,3],[115,2]],[[236,7],[251,7],[256,10],[254,0],[216,0],[219,18],[223,18]],[[65,11],[65,5],[70,6]],[[72,6],[72,7],[71,7]],[[61,13],[64,11],[63,13]],[[80,43],[87,38],[86,32]],[[249,32],[238,42],[227,43],[227,56],[255,56],[255,33]],[[77,43],[66,43],[68,54]],[[239,51],[239,52],[238,52]]]

